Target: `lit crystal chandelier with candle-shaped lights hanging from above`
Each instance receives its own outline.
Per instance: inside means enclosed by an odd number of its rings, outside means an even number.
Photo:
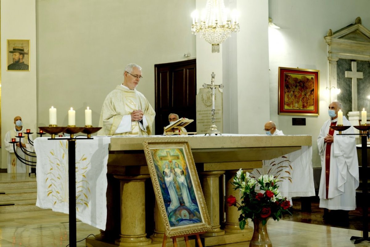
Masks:
[[[232,16],[228,18],[228,16]],[[207,0],[206,8],[201,13],[198,23],[198,11],[192,13],[193,24],[191,33],[201,33],[201,37],[212,44],[212,53],[220,52],[220,44],[231,36],[231,33],[239,31],[239,23],[236,20],[236,11],[230,13],[225,9],[223,0]]]

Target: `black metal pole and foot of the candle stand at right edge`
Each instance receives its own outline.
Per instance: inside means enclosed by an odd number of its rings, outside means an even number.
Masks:
[[[352,236],[351,240],[354,240],[354,244],[361,243],[362,241],[370,241],[369,238],[369,217],[368,217],[368,206],[367,206],[367,136],[361,135],[361,155],[362,155],[362,237]]]

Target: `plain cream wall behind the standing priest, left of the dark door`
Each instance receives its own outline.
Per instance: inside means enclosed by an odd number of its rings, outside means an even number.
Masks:
[[[154,64],[195,56],[194,9],[195,0],[37,0],[38,124],[48,124],[53,105],[59,126],[67,125],[70,107],[83,126],[89,106],[97,126],[128,63],[142,67],[137,89],[154,107]]]

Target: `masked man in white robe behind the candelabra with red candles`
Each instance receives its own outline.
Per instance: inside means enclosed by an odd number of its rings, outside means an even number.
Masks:
[[[18,133],[26,132],[23,129],[22,118],[20,116],[14,117],[15,127],[8,131],[4,138],[4,146],[6,151],[8,151],[8,173],[26,173],[26,164],[23,164],[14,154],[13,144],[9,143],[11,138],[16,138],[16,141],[21,140],[21,143],[16,143],[16,152],[21,158],[26,158],[26,155],[23,153],[22,148],[27,151],[33,151],[33,146],[29,143],[27,134],[23,134],[23,138],[18,138]],[[32,135],[29,135],[30,141],[33,141]]]

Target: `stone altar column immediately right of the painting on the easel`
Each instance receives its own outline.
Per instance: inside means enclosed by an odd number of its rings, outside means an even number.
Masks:
[[[203,237],[221,236],[225,234],[220,227],[220,194],[219,177],[225,171],[203,171],[202,176],[203,194],[208,209],[209,218],[211,218],[212,229],[203,233]]]

